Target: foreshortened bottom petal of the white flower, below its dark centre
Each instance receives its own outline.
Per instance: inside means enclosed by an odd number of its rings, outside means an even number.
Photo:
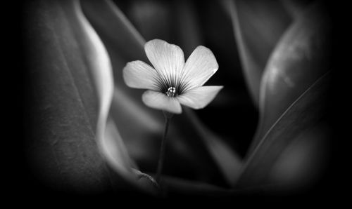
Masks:
[[[155,90],[146,90],[142,95],[142,100],[148,107],[162,109],[175,114],[182,113],[181,104],[175,97],[168,97]]]

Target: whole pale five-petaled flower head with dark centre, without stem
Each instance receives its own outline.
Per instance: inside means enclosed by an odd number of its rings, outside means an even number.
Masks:
[[[153,65],[142,61],[128,62],[123,69],[127,86],[148,89],[142,95],[144,104],[180,114],[181,104],[194,109],[206,107],[223,86],[203,86],[218,70],[213,53],[198,46],[184,62],[179,46],[160,39],[148,41],[144,50]]]

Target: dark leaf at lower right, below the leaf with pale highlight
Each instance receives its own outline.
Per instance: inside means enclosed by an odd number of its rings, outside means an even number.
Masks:
[[[282,173],[281,175],[273,174],[279,173],[275,171],[277,165],[279,165],[281,172],[284,172],[284,168],[290,168],[291,176],[294,176],[293,180],[296,178],[295,175],[313,173],[312,170],[308,170],[309,172],[306,170],[310,166],[312,166],[310,168],[316,166],[318,169],[318,164],[312,165],[313,163],[311,163],[306,166],[306,162],[317,159],[317,155],[321,157],[318,151],[325,146],[326,136],[324,133],[329,133],[329,129],[322,130],[322,127],[325,126],[321,126],[321,124],[327,120],[330,76],[329,73],[321,76],[290,105],[268,130],[268,133],[260,140],[260,144],[244,164],[237,188],[260,187],[273,182],[282,183],[279,180],[279,178],[284,178]],[[293,149],[293,151],[289,149]],[[292,153],[293,158],[291,157]],[[303,159],[300,160],[300,157]],[[294,161],[289,161],[289,159]],[[282,162],[290,164],[285,165]],[[297,166],[294,165],[295,162],[298,163]],[[291,180],[284,180],[284,182],[290,184]]]

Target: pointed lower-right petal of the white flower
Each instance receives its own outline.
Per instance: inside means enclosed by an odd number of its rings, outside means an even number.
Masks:
[[[181,104],[193,109],[206,107],[219,93],[223,86],[200,86],[188,90],[177,97]]]

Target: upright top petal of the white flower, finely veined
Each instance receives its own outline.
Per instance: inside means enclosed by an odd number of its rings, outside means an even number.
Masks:
[[[153,39],[144,45],[144,50],[161,79],[165,83],[175,85],[184,67],[182,49],[166,41]]]

